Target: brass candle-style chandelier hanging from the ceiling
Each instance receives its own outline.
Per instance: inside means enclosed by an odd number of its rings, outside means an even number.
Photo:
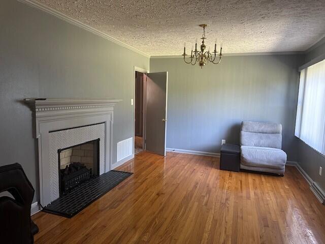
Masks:
[[[222,47],[220,47],[220,53],[217,54],[217,43],[214,44],[214,51],[211,53],[210,50],[205,51],[205,44],[204,44],[204,40],[207,39],[205,37],[205,27],[207,27],[206,24],[200,24],[200,27],[203,27],[203,34],[202,34],[202,44],[201,44],[201,50],[198,51],[198,42],[196,42],[195,44],[195,50],[193,51],[193,47],[191,50],[191,56],[190,59],[188,59],[188,62],[186,61],[185,57],[187,56],[187,54],[185,53],[185,45],[184,45],[184,53],[182,54],[182,56],[184,56],[184,62],[186,64],[191,64],[191,65],[195,65],[197,62],[199,63],[199,66],[201,67],[201,69],[203,68],[203,66],[205,66],[206,64],[208,64],[209,62],[211,62],[212,64],[219,64],[221,61],[221,50]],[[216,57],[219,56],[219,60],[218,62],[215,62]],[[217,58],[218,59],[218,58]]]

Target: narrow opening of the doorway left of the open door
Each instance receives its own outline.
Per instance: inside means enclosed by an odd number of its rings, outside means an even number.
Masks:
[[[137,155],[145,150],[145,96],[144,96],[144,74],[136,71],[135,78],[135,143],[134,154]]]

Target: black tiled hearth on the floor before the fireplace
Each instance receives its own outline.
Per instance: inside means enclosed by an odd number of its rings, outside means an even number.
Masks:
[[[68,194],[43,208],[44,212],[72,218],[90,203],[112,190],[132,173],[111,170],[99,177],[83,182]]]

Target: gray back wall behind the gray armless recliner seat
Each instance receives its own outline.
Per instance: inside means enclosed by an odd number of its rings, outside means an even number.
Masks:
[[[296,161],[295,119],[303,55],[225,56],[200,69],[181,58],[151,58],[168,71],[167,147],[218,153],[221,139],[239,143],[242,120],[283,126],[283,149]]]

